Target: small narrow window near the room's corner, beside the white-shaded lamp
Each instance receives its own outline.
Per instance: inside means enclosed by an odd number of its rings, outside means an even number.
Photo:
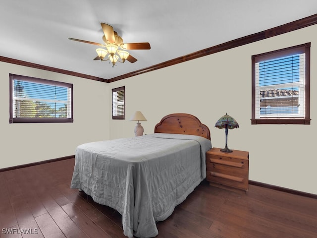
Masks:
[[[112,89],[112,119],[125,119],[125,87]]]

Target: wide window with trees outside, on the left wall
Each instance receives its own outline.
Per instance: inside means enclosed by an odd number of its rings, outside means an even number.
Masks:
[[[9,123],[73,122],[73,85],[10,74]]]

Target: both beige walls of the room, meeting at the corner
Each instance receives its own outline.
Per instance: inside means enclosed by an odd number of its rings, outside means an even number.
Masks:
[[[214,128],[228,113],[240,128],[229,130],[231,149],[250,151],[249,179],[317,194],[317,25],[187,61],[110,84],[0,62],[0,168],[55,159],[77,145],[134,136],[134,111],[145,133],[170,113],[190,113],[211,129],[214,147],[224,130]],[[311,42],[311,125],[251,125],[251,56]],[[74,123],[9,124],[9,73],[74,84]],[[111,120],[111,88],[126,87],[126,119]],[[96,117],[90,115],[97,114]]]

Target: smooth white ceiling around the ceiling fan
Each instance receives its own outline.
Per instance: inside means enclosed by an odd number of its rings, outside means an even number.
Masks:
[[[0,56],[110,79],[317,13],[317,0],[0,0]],[[100,23],[135,63],[93,60]]]

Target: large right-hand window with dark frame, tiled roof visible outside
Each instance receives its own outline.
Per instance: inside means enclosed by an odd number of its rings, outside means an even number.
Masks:
[[[311,43],[252,56],[252,124],[310,124]]]

